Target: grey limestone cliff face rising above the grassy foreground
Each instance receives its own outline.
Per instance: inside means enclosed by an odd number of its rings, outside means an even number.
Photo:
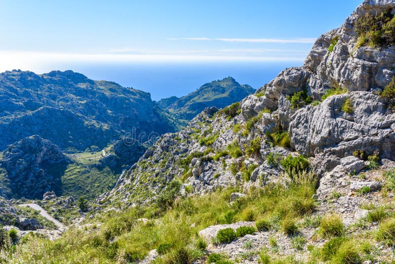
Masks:
[[[302,67],[163,135],[99,200],[151,200],[173,178],[192,185],[192,193],[261,186],[278,180],[286,170],[278,161],[288,155],[308,156],[320,177],[356,150],[394,160],[395,115],[379,93],[395,76],[395,48],[357,45],[356,34],[358,18],[394,7],[390,0],[364,1],[340,28],[317,39]]]

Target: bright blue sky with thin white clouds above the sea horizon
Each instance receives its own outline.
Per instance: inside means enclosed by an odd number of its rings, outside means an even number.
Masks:
[[[81,61],[300,61],[360,2],[0,0],[0,70]]]

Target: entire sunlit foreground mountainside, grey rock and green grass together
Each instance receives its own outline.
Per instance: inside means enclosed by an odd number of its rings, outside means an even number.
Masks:
[[[393,262],[394,14],[395,0],[365,0],[303,66],[161,135],[63,238],[0,258]]]

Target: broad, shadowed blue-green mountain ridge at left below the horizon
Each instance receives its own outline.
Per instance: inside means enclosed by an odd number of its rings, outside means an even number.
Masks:
[[[147,92],[73,71],[0,74],[0,149],[38,134],[61,149],[106,147],[126,133],[174,132],[178,123]]]

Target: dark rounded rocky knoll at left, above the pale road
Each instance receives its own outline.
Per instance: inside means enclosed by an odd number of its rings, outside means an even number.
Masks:
[[[1,195],[40,199],[47,191],[60,191],[68,163],[58,146],[38,135],[9,145],[1,160],[8,192]]]

